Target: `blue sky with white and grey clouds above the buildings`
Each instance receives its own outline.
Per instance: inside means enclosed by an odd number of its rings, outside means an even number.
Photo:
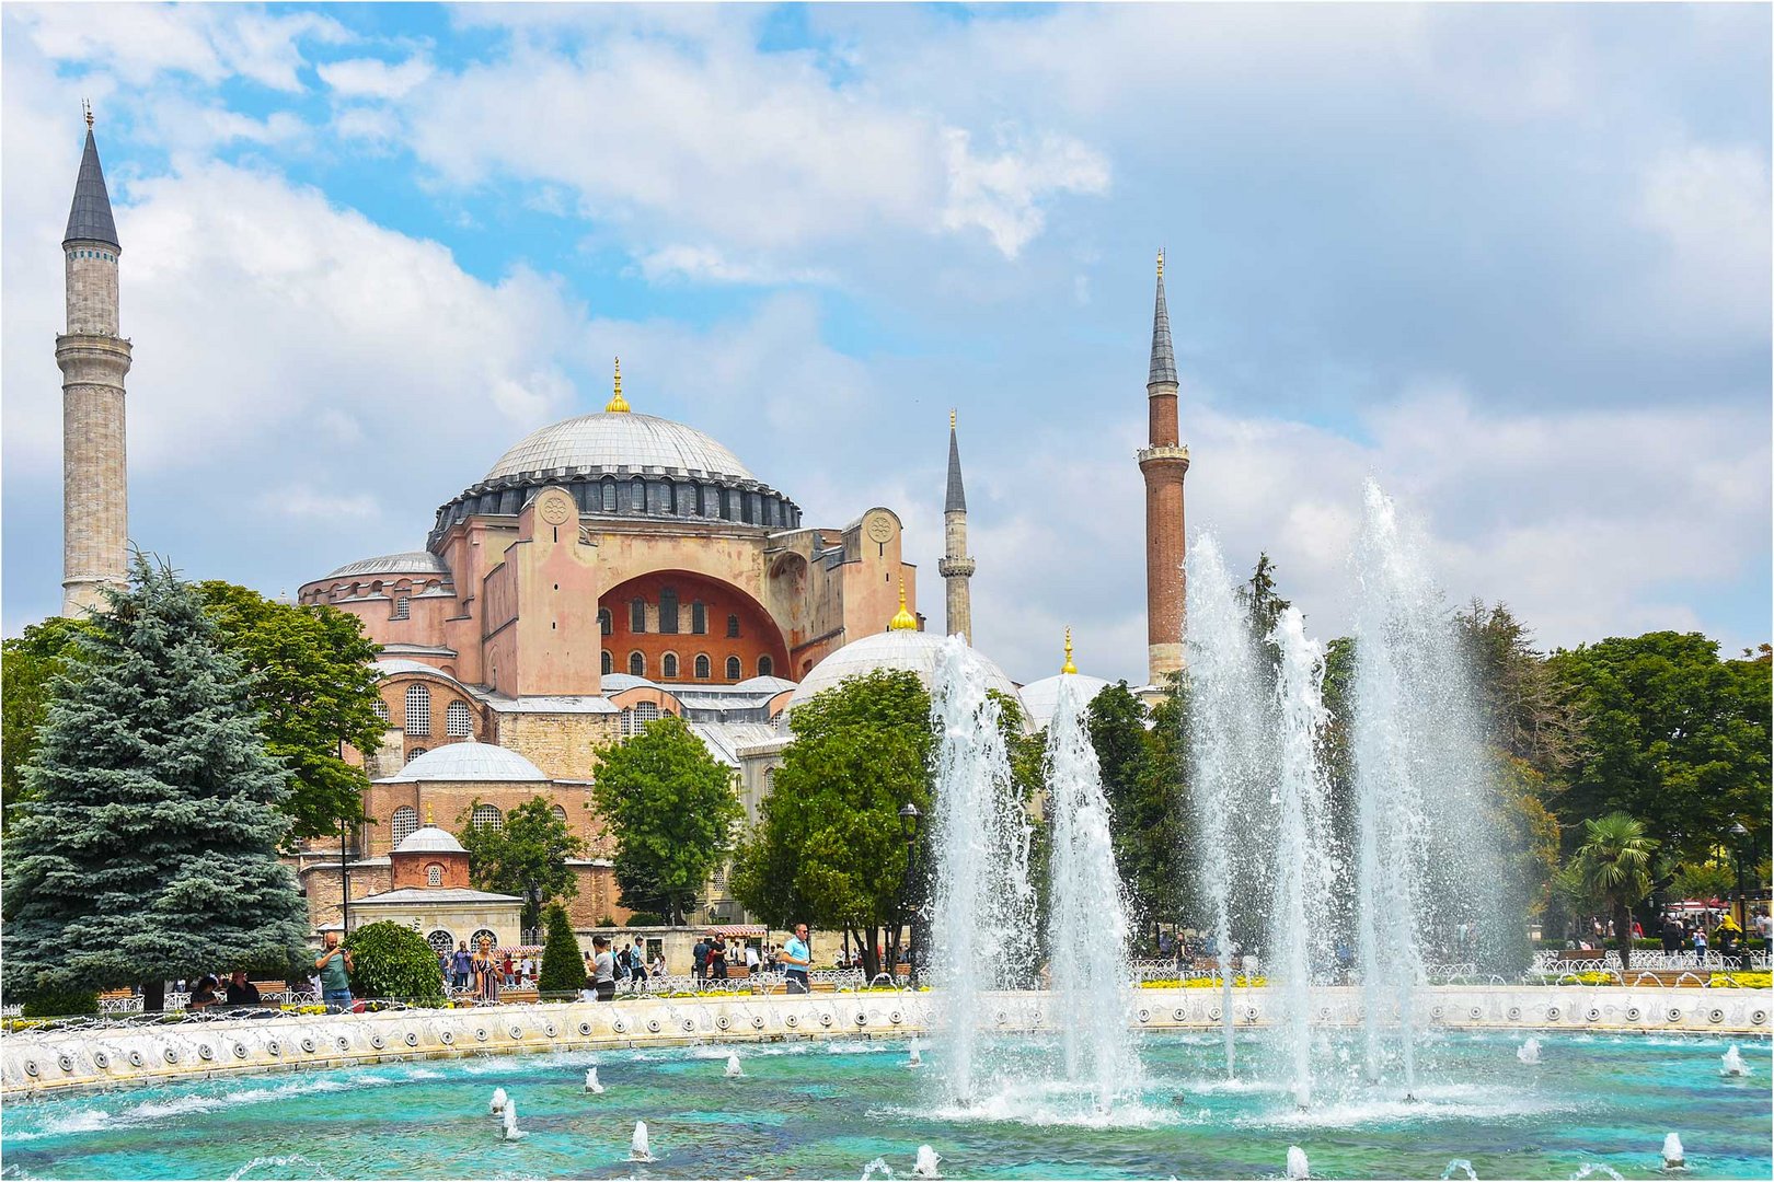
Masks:
[[[7,634],[60,603],[60,237],[92,101],[130,528],[294,594],[529,431],[688,422],[942,626],[1144,680],[1153,261],[1189,533],[1350,627],[1362,482],[1543,649],[1770,636],[1767,5],[0,11]]]

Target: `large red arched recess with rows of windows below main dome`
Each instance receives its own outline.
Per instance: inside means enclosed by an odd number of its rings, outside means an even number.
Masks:
[[[660,631],[660,594],[678,592],[678,631]],[[633,601],[646,604],[646,631],[633,631]],[[694,604],[704,604],[708,631],[695,634]],[[603,592],[598,608],[610,611],[610,634],[603,636],[603,647],[610,652],[612,666],[617,673],[628,672],[630,654],[639,652],[644,659],[646,677],[662,684],[708,684],[731,686],[736,680],[757,677],[759,659],[768,661],[768,670],[777,677],[789,677],[788,645],[782,631],[765,611],[765,606],[749,594],[692,571],[648,571],[624,579]],[[738,617],[738,636],[727,634],[729,617]],[[678,675],[665,675],[665,656],[678,657]],[[710,675],[695,675],[695,657],[708,656]],[[740,657],[740,675],[729,677],[729,657]]]

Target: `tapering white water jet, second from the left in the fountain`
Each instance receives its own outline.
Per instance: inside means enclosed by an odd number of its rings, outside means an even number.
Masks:
[[[1070,640],[1066,642],[1070,650]],[[1084,721],[1075,675],[1061,675],[1047,728],[1048,920],[1047,946],[1066,1079],[1089,1083],[1107,1109],[1139,1086],[1132,1038],[1134,969],[1128,918],[1109,835],[1102,767]]]

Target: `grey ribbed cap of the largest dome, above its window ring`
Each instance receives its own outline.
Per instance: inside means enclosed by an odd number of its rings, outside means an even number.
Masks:
[[[695,427],[630,411],[580,415],[532,431],[498,457],[486,478],[522,477],[550,468],[663,470],[676,475],[757,478],[738,455]]]

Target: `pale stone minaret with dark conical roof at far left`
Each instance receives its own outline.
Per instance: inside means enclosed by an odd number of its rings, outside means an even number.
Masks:
[[[130,581],[130,487],[122,376],[130,342],[117,335],[117,223],[112,222],[99,147],[87,112],[67,264],[67,333],[55,338],[62,367],[62,615],[99,608],[99,588]]]

